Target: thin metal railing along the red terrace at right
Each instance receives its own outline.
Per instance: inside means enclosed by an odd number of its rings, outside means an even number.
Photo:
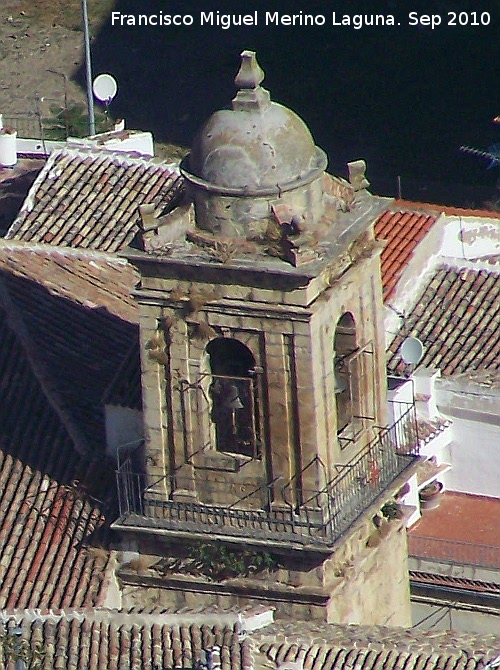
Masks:
[[[500,547],[438,537],[408,535],[408,553],[413,558],[437,563],[500,568]]]

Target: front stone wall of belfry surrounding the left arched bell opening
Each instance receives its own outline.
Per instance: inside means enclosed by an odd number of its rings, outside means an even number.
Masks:
[[[213,292],[213,287],[196,286],[200,295],[209,290]],[[169,298],[165,294],[164,302],[172,302]],[[262,314],[262,307],[249,301],[236,299],[231,305],[227,299],[221,302],[211,300],[190,314],[183,314],[183,307],[175,309],[168,304],[143,306],[144,321],[149,325],[142,333],[148,472],[158,479],[186,463],[213,470],[219,461],[229,483],[233,479],[248,481],[252,476],[261,485],[270,472],[273,477],[288,480],[303,467],[298,459],[299,444],[309,462],[317,443],[315,407],[310,402],[313,376],[308,317],[303,310],[296,318],[290,310],[281,309],[280,313],[281,305],[269,307]],[[160,325],[165,320],[169,329],[163,334]],[[258,380],[266,433],[261,467],[240,459],[231,468],[231,456],[224,459],[215,451],[206,353],[206,345],[214,337],[235,338],[243,343],[263,370]],[[162,338],[163,344],[156,347],[154,343]],[[302,403],[300,397],[304,398]],[[186,472],[189,476],[192,473]]]

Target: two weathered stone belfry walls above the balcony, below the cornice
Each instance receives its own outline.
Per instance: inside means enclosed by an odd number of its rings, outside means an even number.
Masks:
[[[293,479],[319,456],[326,471],[314,466],[304,475],[305,488],[313,491],[335,475],[336,464],[355,455],[372,435],[344,450],[337,441],[334,339],[336,324],[346,312],[353,315],[357,345],[369,347],[358,380],[366,430],[385,421],[378,251],[369,245],[365,251],[340,278],[328,280],[327,269],[326,278],[311,282],[313,295],[311,286],[284,294],[278,288],[207,284],[202,277],[197,283],[143,281],[142,291],[154,296],[141,306],[146,451],[152,478],[179,472],[186,463],[206,467],[207,459],[214,468],[209,378],[204,377],[209,372],[206,346],[214,337],[245,344],[263,371],[263,466],[245,465],[243,479],[256,476],[258,485],[270,476]],[[303,304],[307,292],[308,306]],[[232,469],[240,467],[238,462]],[[192,470],[184,470],[179,476],[192,478]],[[221,460],[221,470],[231,467],[222,467]]]

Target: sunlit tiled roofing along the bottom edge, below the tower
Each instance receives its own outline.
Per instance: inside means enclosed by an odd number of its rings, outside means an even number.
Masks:
[[[24,638],[46,651],[47,670],[206,668],[219,650],[222,670],[479,670],[500,650],[500,637],[491,634],[309,621],[246,630],[241,616],[230,619],[161,611],[0,613],[8,629],[20,625]]]

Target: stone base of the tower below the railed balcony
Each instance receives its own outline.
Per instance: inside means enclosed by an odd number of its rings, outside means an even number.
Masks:
[[[168,570],[189,549],[151,536],[119,571],[122,606],[222,609],[265,606],[276,619],[410,626],[407,543],[401,519],[354,524],[328,558],[297,553],[250,577],[216,580]],[[131,545],[129,545],[131,546]],[[177,563],[179,564],[179,563]]]

